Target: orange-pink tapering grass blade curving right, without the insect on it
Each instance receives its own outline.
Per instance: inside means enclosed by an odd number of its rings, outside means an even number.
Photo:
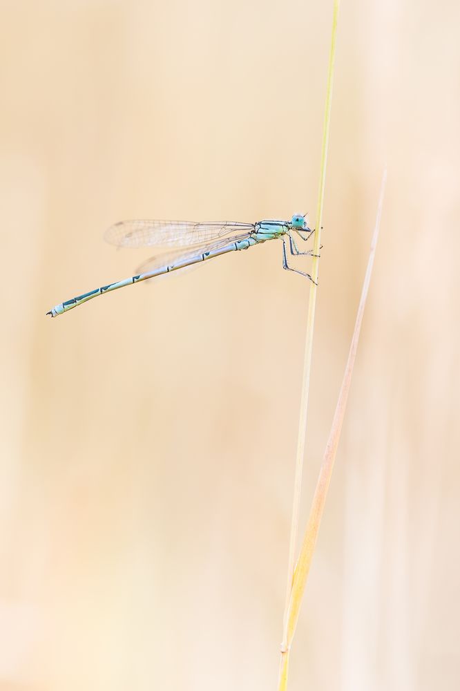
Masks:
[[[294,637],[294,632],[296,630],[296,624],[298,621],[298,615],[300,612],[300,604],[302,602],[303,594],[305,591],[305,585],[307,583],[307,577],[309,574],[310,565],[312,563],[312,556],[314,553],[314,548],[316,545],[316,540],[318,538],[318,530],[320,527],[320,521],[323,516],[323,509],[325,506],[325,500],[327,496],[327,489],[329,488],[329,482],[332,476],[332,470],[334,468],[334,460],[336,457],[336,451],[338,446],[338,440],[341,435],[341,429],[343,424],[343,417],[345,415],[345,408],[347,405],[347,398],[349,394],[349,388],[352,381],[352,372],[354,367],[354,361],[356,359],[356,350],[358,348],[359,334],[361,332],[361,324],[363,322],[364,307],[367,299],[367,292],[369,291],[370,278],[372,274],[372,267],[374,265],[374,257],[376,251],[376,245],[378,240],[378,231],[380,229],[382,207],[383,207],[383,195],[385,193],[385,183],[386,183],[387,173],[386,170],[383,173],[380,198],[378,200],[378,209],[376,216],[376,223],[374,227],[374,234],[372,236],[372,242],[370,247],[369,259],[367,261],[367,269],[365,273],[365,278],[363,282],[363,289],[361,291],[361,299],[359,301],[358,313],[356,314],[356,322],[354,325],[354,332],[352,337],[352,343],[350,345],[347,365],[345,367],[345,374],[343,375],[343,381],[341,386],[341,391],[338,396],[337,406],[334,413],[334,419],[332,421],[331,431],[329,433],[329,439],[327,440],[327,445],[325,448],[325,453],[323,457],[323,464],[320,468],[320,473],[318,477],[318,482],[316,484],[316,490],[314,493],[314,498],[312,502],[312,509],[310,510],[309,519],[307,522],[307,529],[305,530],[305,536],[303,538],[303,544],[300,549],[300,556],[296,568],[294,570],[294,578],[292,581],[291,596],[289,598],[289,607],[287,612],[287,636],[286,636],[286,647],[285,651],[282,652],[281,659],[281,669],[280,669],[280,682],[278,685],[279,691],[285,691],[287,688],[287,672],[289,668],[289,650],[291,646],[292,639]]]

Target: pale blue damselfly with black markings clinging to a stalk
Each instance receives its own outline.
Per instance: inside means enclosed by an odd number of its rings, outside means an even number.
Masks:
[[[111,290],[117,290],[125,285],[146,281],[161,274],[167,274],[207,259],[247,249],[253,245],[260,245],[267,240],[281,238],[282,267],[297,274],[306,276],[312,281],[312,276],[290,267],[287,263],[287,245],[291,256],[309,255],[312,250],[300,252],[294,232],[305,242],[314,231],[310,229],[305,216],[295,214],[291,220],[260,220],[257,223],[233,223],[219,221],[215,223],[193,223],[193,221],[171,220],[128,220],[115,223],[106,232],[106,240],[119,247],[158,247],[171,246],[175,249],[171,254],[160,254],[153,257],[142,269],[142,273],[124,281],[108,283],[88,293],[78,295],[71,300],[60,303],[46,314],[58,316],[73,307],[92,300],[98,295],[104,295]]]

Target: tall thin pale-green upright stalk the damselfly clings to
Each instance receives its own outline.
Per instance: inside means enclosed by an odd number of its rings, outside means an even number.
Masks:
[[[303,387],[300,397],[300,414],[298,424],[298,438],[297,438],[297,452],[296,452],[296,469],[294,473],[294,498],[292,502],[292,516],[291,516],[291,533],[289,537],[289,558],[287,567],[287,587],[285,600],[285,614],[284,626],[282,635],[281,650],[284,651],[287,645],[287,610],[289,605],[289,598],[291,595],[292,578],[294,576],[294,563],[296,558],[296,545],[298,533],[298,517],[300,511],[300,492],[302,486],[303,473],[303,457],[305,453],[305,435],[307,433],[307,411],[308,411],[308,395],[310,386],[310,371],[312,367],[312,352],[313,352],[313,332],[316,310],[316,292],[319,274],[319,253],[321,247],[321,230],[323,225],[323,202],[326,182],[326,167],[327,167],[327,149],[329,146],[329,124],[331,120],[331,104],[332,104],[332,81],[334,76],[334,59],[336,54],[336,35],[338,22],[338,8],[340,1],[334,0],[334,10],[332,15],[332,37],[331,48],[329,51],[329,66],[327,70],[327,89],[325,113],[323,122],[323,144],[321,151],[320,163],[320,180],[318,189],[318,206],[316,210],[316,230],[314,233],[314,250],[312,261],[312,278],[310,283],[309,303],[307,312],[307,331],[305,334],[305,353],[303,361]]]

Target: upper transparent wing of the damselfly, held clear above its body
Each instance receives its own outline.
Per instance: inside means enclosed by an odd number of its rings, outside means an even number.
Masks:
[[[233,221],[122,220],[106,231],[105,238],[117,247],[189,247],[209,243],[230,233],[249,233],[253,229],[253,223]]]

